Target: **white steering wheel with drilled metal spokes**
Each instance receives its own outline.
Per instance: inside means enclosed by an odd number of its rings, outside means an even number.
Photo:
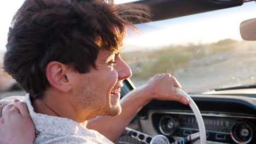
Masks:
[[[129,93],[127,93],[125,95],[125,97],[123,97],[121,101],[125,101],[126,99],[129,99],[130,97],[132,97],[132,95],[134,95],[137,91],[141,90],[142,88],[146,87],[146,85],[142,85],[136,89],[133,89],[132,91],[130,91]],[[197,105],[195,104],[194,100],[191,99],[191,97],[189,97],[189,95],[187,93],[185,93],[184,91],[182,91],[182,89],[179,89],[179,88],[176,88],[174,87],[174,91],[183,95],[184,97],[188,98],[189,99],[189,106],[191,107],[192,111],[194,112],[195,114],[195,117],[196,117],[196,121],[197,121],[197,125],[199,127],[199,133],[195,133],[195,134],[191,134],[187,137],[185,137],[184,139],[181,139],[179,140],[178,142],[176,143],[185,143],[185,142],[188,142],[188,141],[193,141],[194,139],[196,139],[198,136],[200,136],[200,143],[201,144],[206,144],[206,131],[205,131],[205,124],[203,123],[203,119],[202,119],[202,116],[201,116],[201,113],[197,107]],[[133,130],[133,129],[130,129],[130,128],[126,128],[125,129],[126,133],[128,135],[131,135],[133,138],[135,139],[138,139],[140,141],[143,141],[145,143],[149,143],[149,144],[155,144],[155,143],[166,143],[166,144],[169,144],[170,142],[168,141],[167,137],[164,136],[164,135],[156,135],[154,137],[152,136],[149,136],[147,134],[143,134],[139,131],[136,131],[136,130]],[[136,135],[134,135],[136,134]],[[139,137],[138,135],[142,135],[141,137]],[[143,140],[142,140],[143,138]]]

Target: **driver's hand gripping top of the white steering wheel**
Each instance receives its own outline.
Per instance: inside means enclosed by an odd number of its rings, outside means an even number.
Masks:
[[[176,100],[183,104],[189,104],[188,98],[174,92],[174,87],[181,88],[175,77],[170,74],[158,74],[149,80],[146,89],[153,99]]]

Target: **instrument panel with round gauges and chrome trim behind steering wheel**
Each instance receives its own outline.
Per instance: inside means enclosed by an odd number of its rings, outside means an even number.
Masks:
[[[203,113],[207,141],[217,143],[256,143],[256,118]],[[159,134],[185,137],[199,131],[193,113],[153,113],[152,122]]]

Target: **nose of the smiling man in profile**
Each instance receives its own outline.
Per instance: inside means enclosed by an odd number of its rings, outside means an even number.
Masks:
[[[132,75],[132,71],[130,67],[119,57],[119,62],[115,65],[117,72],[118,72],[118,79],[124,80],[128,79]]]

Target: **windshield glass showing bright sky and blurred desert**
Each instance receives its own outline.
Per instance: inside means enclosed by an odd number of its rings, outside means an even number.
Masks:
[[[125,39],[122,58],[135,86],[170,73],[185,92],[252,85],[256,42],[241,39],[242,21],[256,17],[255,2],[241,7],[136,25]]]

